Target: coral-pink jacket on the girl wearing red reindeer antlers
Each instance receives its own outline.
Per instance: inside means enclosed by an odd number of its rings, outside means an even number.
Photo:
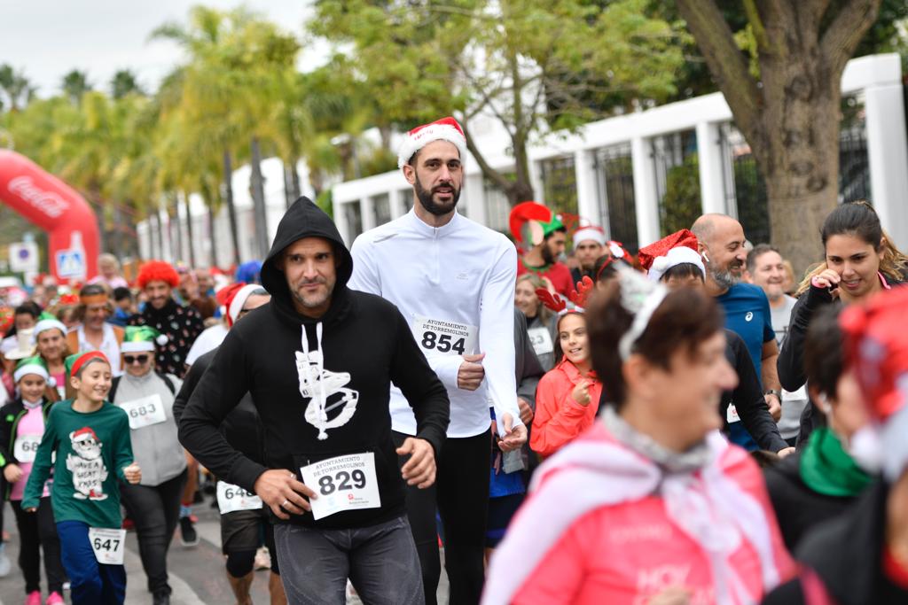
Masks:
[[[564,444],[583,433],[596,420],[602,383],[590,376],[589,404],[580,405],[571,396],[581,376],[567,359],[562,359],[542,376],[536,388],[536,415],[530,432],[529,447],[538,454],[555,454]]]

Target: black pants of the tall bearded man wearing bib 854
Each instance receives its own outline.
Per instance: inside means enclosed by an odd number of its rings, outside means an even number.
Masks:
[[[394,433],[400,446],[409,435]],[[426,603],[437,602],[441,564],[436,507],[445,535],[445,570],[450,605],[479,603],[485,581],[483,554],[489,512],[489,431],[475,437],[448,438],[435,461],[435,484],[420,490],[407,487],[407,514],[422,566]],[[402,466],[405,459],[400,459]]]

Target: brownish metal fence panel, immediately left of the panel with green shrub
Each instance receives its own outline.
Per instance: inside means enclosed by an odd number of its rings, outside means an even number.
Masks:
[[[599,224],[609,239],[637,250],[637,206],[634,200],[634,165],[630,144],[603,147],[593,155],[593,169],[599,191]]]

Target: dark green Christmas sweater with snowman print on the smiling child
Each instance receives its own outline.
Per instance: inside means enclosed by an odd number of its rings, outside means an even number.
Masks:
[[[53,455],[56,454],[56,461]],[[123,467],[133,464],[129,417],[104,402],[95,412],[73,409],[73,400],[55,404],[25,484],[22,508],[38,505],[44,482],[54,466],[51,503],[54,521],[81,521],[89,527],[120,528]]]

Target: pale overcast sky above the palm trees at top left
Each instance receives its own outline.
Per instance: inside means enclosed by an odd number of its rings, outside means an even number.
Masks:
[[[190,0],[0,0],[0,63],[22,69],[38,95],[60,90],[64,73],[88,72],[94,88],[109,91],[113,74],[131,69],[146,89],[153,89],[182,55],[170,42],[148,40],[167,21],[185,23]],[[204,0],[218,8],[238,0]],[[244,3],[287,31],[301,34],[311,15],[309,0],[248,0]],[[313,60],[322,49],[308,52]]]

